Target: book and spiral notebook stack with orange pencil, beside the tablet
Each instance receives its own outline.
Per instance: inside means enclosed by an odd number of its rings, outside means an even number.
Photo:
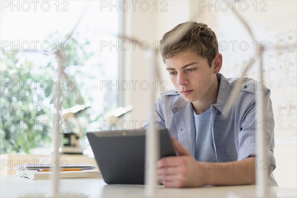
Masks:
[[[16,176],[30,178],[31,180],[51,179],[53,168],[51,165],[28,164],[16,171]],[[60,179],[98,179],[101,174],[95,170],[94,165],[89,164],[68,164],[60,165]]]

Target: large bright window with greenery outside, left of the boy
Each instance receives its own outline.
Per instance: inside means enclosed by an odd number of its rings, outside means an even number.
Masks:
[[[101,88],[118,79],[119,51],[102,45],[118,40],[118,11],[100,10],[100,1],[1,1],[0,29],[1,153],[50,145],[57,89],[62,110],[90,104],[76,117],[84,132],[118,106],[118,92]],[[74,128],[61,124],[62,132]]]

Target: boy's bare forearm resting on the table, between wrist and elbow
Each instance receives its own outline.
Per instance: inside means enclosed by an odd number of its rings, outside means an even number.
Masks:
[[[206,185],[248,185],[255,183],[255,157],[242,161],[199,163]]]

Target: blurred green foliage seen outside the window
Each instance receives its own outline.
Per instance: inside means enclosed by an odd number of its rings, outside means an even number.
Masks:
[[[57,43],[54,43],[57,38],[63,37],[55,32],[47,39],[53,41],[52,52],[57,50]],[[74,67],[77,68],[75,75],[82,75],[84,64],[94,56],[88,49],[89,45],[90,42],[78,34],[67,40],[66,45],[59,49],[64,57],[65,72],[67,67]],[[62,109],[90,101],[90,98],[82,97],[78,88],[84,87],[84,82],[76,84],[70,75],[70,79],[63,75],[62,82],[57,82],[54,53],[5,52],[1,48],[0,63],[0,153],[28,153],[32,148],[50,144],[52,128],[55,127],[53,109],[57,88],[62,92]],[[101,65],[96,63],[94,66]],[[90,74],[89,77],[96,76]],[[11,86],[12,83],[15,86]],[[88,112],[83,116],[91,122]]]

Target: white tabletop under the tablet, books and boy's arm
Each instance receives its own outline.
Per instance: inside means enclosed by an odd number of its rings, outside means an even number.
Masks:
[[[51,180],[0,176],[0,198],[50,197]],[[271,187],[272,197],[297,197],[296,189]],[[143,185],[107,185],[102,179],[60,180],[60,192],[68,197],[145,197]],[[255,186],[172,189],[158,186],[155,197],[255,197]]]

